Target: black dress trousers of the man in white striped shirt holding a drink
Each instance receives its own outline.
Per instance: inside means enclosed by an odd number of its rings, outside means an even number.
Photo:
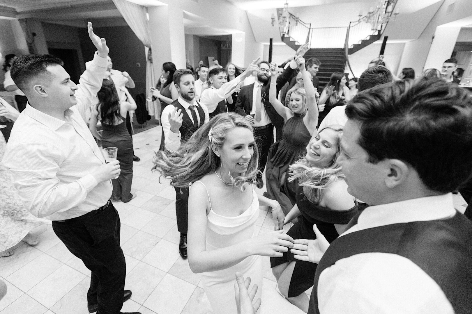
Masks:
[[[67,249],[92,271],[89,305],[97,314],[119,314],[123,306],[126,262],[119,244],[120,219],[110,205],[65,222],[52,222],[52,229]]]

